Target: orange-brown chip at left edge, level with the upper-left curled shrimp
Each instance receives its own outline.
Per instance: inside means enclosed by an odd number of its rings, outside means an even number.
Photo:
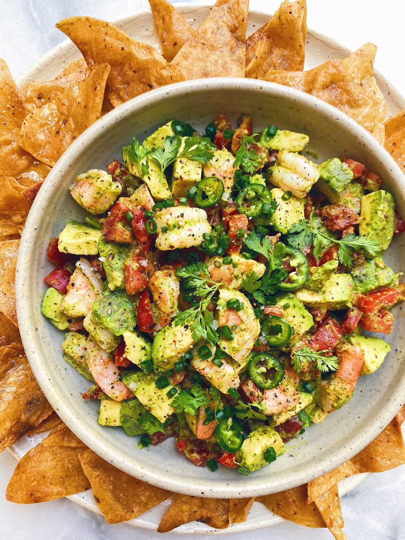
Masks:
[[[14,178],[0,177],[0,240],[19,238],[30,204],[24,197],[25,188]]]

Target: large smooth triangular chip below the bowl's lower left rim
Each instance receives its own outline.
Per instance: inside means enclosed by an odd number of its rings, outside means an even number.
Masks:
[[[92,450],[80,453],[80,463],[107,523],[128,521],[172,495],[123,473]]]

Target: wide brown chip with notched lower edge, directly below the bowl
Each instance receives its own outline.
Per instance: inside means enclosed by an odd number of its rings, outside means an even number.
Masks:
[[[229,527],[230,499],[209,499],[176,495],[173,504],[161,520],[158,532],[176,529],[184,523],[201,521],[215,529]]]

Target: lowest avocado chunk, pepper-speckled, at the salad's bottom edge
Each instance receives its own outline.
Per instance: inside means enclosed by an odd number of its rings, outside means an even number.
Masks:
[[[285,444],[277,431],[260,426],[251,431],[242,443],[238,451],[238,463],[246,465],[250,471],[257,471],[268,465],[265,451],[270,447],[274,448],[277,457],[284,454]]]

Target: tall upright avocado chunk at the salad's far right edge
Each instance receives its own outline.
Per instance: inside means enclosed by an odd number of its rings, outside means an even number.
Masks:
[[[395,202],[391,193],[379,190],[361,198],[359,234],[377,242],[378,252],[370,254],[363,249],[368,259],[379,257],[386,251],[393,238]]]

